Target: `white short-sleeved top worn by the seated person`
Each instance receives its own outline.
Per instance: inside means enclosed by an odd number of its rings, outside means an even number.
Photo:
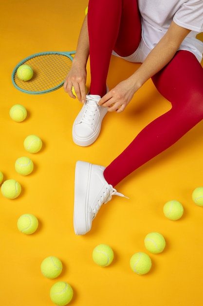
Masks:
[[[188,50],[202,60],[203,0],[138,0],[142,16],[142,36],[151,50],[164,36],[172,21],[191,30],[179,50]]]

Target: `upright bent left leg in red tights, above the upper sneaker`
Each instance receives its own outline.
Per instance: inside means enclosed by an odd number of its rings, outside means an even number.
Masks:
[[[140,15],[135,0],[90,0],[88,5],[90,40],[90,93],[106,93],[106,80],[114,50],[131,55],[141,40]]]

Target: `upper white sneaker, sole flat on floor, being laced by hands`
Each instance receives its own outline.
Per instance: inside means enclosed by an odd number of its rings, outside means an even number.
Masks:
[[[99,136],[101,123],[108,109],[98,106],[99,95],[86,95],[86,101],[77,115],[72,135],[74,143],[86,147],[91,145]]]

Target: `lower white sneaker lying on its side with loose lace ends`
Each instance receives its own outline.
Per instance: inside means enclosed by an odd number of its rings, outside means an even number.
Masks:
[[[92,220],[102,204],[113,195],[124,197],[107,183],[103,172],[105,167],[77,161],[74,187],[74,232],[84,235],[91,230]]]

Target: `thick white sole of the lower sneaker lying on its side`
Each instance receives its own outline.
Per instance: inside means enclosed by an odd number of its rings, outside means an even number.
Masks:
[[[76,235],[84,235],[88,230],[88,185],[91,164],[77,161],[75,167],[74,185],[74,232]]]

